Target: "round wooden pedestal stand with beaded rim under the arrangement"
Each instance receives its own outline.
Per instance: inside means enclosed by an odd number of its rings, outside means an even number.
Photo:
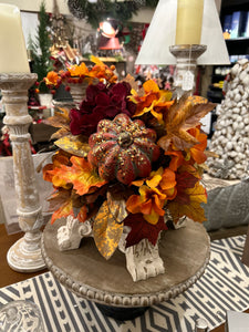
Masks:
[[[95,302],[104,314],[133,319],[162,301],[184,292],[204,273],[209,260],[210,242],[203,225],[187,220],[186,227],[162,235],[159,255],[165,273],[133,282],[126,270],[125,256],[116,250],[110,260],[97,251],[92,238],[84,238],[79,249],[60,251],[58,228],[63,222],[46,225],[42,237],[42,255],[48,269],[65,288]]]

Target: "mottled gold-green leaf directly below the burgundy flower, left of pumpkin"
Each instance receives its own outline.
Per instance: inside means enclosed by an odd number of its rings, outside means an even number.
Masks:
[[[68,135],[55,141],[54,144],[61,149],[77,157],[86,157],[90,152],[87,141],[81,136]]]

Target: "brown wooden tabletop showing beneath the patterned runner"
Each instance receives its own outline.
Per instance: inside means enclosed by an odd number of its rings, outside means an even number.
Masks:
[[[20,273],[13,271],[8,262],[7,262],[7,252],[9,248],[21,237],[23,236],[22,232],[10,235],[8,236],[6,231],[4,225],[0,225],[0,267],[1,267],[1,274],[0,274],[0,288],[35,277],[38,274],[41,274],[48,270],[38,271],[33,273]],[[247,310],[246,312],[249,312]],[[221,324],[220,326],[211,330],[212,332],[225,332],[225,324]]]

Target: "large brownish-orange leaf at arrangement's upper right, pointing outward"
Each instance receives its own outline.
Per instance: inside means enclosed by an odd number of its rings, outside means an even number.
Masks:
[[[170,143],[176,149],[184,151],[198,144],[198,139],[188,133],[189,129],[200,125],[200,118],[215,107],[203,97],[193,98],[183,96],[173,104],[165,115],[166,135],[160,137],[158,145],[168,151]]]

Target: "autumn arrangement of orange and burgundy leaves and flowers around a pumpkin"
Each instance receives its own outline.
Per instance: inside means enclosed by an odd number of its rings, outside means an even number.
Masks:
[[[112,72],[105,66],[102,76],[105,71]],[[132,76],[91,81],[79,107],[49,118],[60,128],[59,151],[43,167],[54,187],[52,222],[69,215],[91,219],[96,247],[108,259],[124,226],[129,247],[145,238],[156,245],[169,216],[204,221],[207,136],[199,121],[214,106],[199,96],[174,100],[152,80],[139,90]]]

